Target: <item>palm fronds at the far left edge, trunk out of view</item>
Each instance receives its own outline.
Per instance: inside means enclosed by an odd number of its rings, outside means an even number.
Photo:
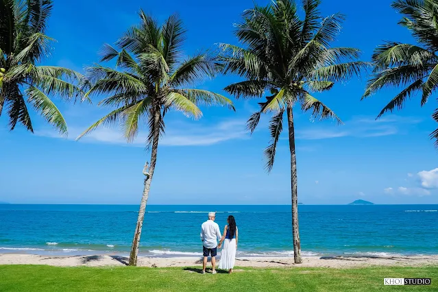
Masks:
[[[17,123],[34,132],[26,104],[34,106],[61,134],[67,126],[49,95],[83,96],[82,75],[58,66],[37,66],[49,56],[53,38],[45,35],[52,1],[0,1],[0,115],[7,106],[10,130]],[[77,85],[71,82],[77,82]]]

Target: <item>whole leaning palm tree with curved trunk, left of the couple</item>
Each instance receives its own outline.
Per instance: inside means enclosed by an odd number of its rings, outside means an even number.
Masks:
[[[151,147],[149,173],[141,198],[140,210],[132,250],[130,265],[136,265],[145,208],[149,189],[156,166],[158,142],[164,134],[164,117],[169,110],[178,110],[195,119],[202,116],[199,105],[228,106],[234,110],[232,101],[208,90],[187,88],[204,77],[215,75],[219,64],[208,52],[182,58],[182,45],[186,31],[178,16],[170,16],[161,26],[147,16],[139,13],[141,23],[125,32],[116,42],[119,51],[105,45],[102,61],[116,58],[121,71],[106,66],[93,66],[88,69],[92,87],[86,93],[110,95],[99,105],[112,106],[105,117],[91,125],[80,137],[99,125],[121,125],[128,142],[138,133],[138,121],[149,124],[147,145]]]

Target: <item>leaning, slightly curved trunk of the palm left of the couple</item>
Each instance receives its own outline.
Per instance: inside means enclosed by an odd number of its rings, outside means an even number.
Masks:
[[[145,218],[145,210],[147,199],[149,198],[149,190],[151,188],[152,176],[154,175],[155,165],[157,161],[158,138],[160,138],[160,110],[154,113],[154,136],[151,149],[151,167],[149,169],[149,178],[145,179],[145,188],[141,197],[140,210],[138,210],[137,225],[135,228],[134,239],[132,239],[132,247],[130,254],[130,266],[137,265],[138,246],[140,245],[141,228],[143,227],[143,219]]]

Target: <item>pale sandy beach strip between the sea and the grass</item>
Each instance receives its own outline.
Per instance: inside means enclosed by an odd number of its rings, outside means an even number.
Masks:
[[[0,265],[53,265],[75,266],[123,266],[127,257],[118,255],[99,256],[42,256],[34,254],[0,254]],[[139,257],[141,267],[194,267],[202,265],[199,257]],[[239,257],[236,267],[367,267],[438,265],[438,256],[308,256],[301,265],[295,265],[291,257]]]

